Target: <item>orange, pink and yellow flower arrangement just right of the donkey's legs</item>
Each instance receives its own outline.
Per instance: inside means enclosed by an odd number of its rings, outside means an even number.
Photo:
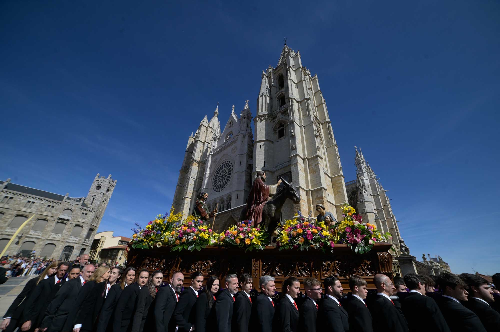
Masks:
[[[315,248],[326,251],[333,248],[332,235],[324,222],[314,223],[315,218],[304,217],[300,211],[292,219],[285,220],[284,226],[276,230],[279,250]]]

